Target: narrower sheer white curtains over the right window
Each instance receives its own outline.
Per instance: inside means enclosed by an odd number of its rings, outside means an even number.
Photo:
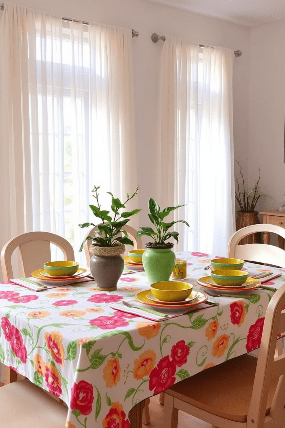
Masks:
[[[234,232],[233,51],[166,36],[160,64],[161,205],[183,205],[176,251],[226,256]]]

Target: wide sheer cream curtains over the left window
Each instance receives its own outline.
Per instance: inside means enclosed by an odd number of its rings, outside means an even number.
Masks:
[[[106,191],[125,200],[137,185],[132,30],[7,3],[0,84],[0,247],[45,230],[68,239],[84,263],[78,224],[96,221],[94,185],[106,209]]]

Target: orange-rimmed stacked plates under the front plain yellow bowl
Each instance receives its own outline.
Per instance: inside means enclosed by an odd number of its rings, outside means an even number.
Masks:
[[[191,306],[199,305],[206,302],[208,296],[202,291],[192,290],[190,296],[181,302],[163,302],[153,296],[151,290],[140,291],[135,295],[135,299],[144,305],[156,306],[160,308],[189,308]]]

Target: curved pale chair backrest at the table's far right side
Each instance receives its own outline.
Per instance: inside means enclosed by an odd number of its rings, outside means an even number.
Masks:
[[[246,226],[235,232],[229,239],[227,257],[285,268],[285,251],[282,248],[270,244],[238,245],[242,238],[256,232],[276,233],[285,238],[285,229],[274,224],[261,223]]]

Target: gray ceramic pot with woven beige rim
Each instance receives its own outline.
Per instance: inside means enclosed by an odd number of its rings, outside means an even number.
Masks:
[[[100,291],[116,290],[117,282],[123,272],[124,259],[120,254],[125,252],[123,244],[115,247],[98,247],[91,244],[90,271]]]

